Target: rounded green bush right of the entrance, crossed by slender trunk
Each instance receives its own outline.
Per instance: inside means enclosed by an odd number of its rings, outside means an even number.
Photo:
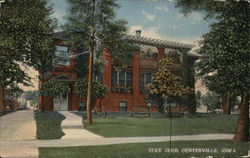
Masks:
[[[85,78],[77,80],[75,83],[75,90],[78,96],[80,96],[83,99],[86,99],[88,90],[88,80]],[[107,86],[98,81],[93,81],[93,90],[92,90],[93,100],[104,98],[107,92],[108,92]]]

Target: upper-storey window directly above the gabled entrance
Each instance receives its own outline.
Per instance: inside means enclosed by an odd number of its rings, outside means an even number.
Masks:
[[[56,56],[56,64],[70,65],[69,47],[56,46],[55,56]]]

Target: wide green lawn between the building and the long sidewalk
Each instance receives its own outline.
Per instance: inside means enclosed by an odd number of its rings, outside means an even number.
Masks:
[[[170,135],[169,118],[95,118],[86,129],[105,137]],[[235,133],[237,116],[181,117],[172,119],[172,135]]]

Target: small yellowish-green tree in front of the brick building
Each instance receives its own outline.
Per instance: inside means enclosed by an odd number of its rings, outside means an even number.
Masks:
[[[189,94],[191,88],[182,84],[180,76],[171,72],[172,60],[168,57],[160,61],[160,66],[153,76],[153,82],[146,85],[147,98],[158,99],[160,111],[163,112],[163,104],[166,100],[178,101]]]

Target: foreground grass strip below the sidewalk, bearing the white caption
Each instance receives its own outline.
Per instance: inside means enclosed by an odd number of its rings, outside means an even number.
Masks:
[[[53,147],[39,148],[39,158],[172,158],[191,156],[244,156],[247,155],[250,142],[233,142],[231,140],[213,141],[176,141],[172,142],[172,148],[177,149],[178,153],[164,152],[169,148],[169,142],[161,143],[136,143],[119,145],[101,145],[86,147]],[[163,148],[161,152],[149,152],[152,148]],[[217,152],[185,153],[184,148],[209,148],[216,149]],[[223,148],[235,149],[235,152],[223,153]]]

